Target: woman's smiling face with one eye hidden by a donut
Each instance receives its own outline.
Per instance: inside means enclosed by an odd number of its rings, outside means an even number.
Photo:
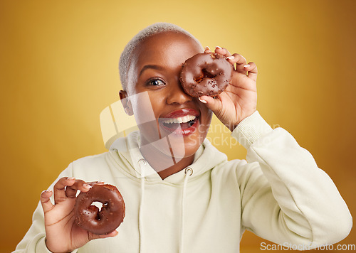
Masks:
[[[202,49],[189,36],[165,32],[142,41],[131,59],[127,93],[141,144],[167,156],[194,155],[209,129],[211,111],[179,82],[184,61],[197,53]]]

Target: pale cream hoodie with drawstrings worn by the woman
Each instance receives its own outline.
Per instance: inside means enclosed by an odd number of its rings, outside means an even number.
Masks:
[[[246,147],[246,161],[227,161],[205,140],[189,168],[164,180],[142,157],[138,132],[107,153],[70,163],[59,178],[116,185],[126,205],[117,237],[95,239],[78,252],[236,253],[246,229],[295,247],[333,244],[349,234],[347,205],[293,136],[271,129],[258,112],[231,135]],[[39,204],[15,252],[48,252],[45,239]]]

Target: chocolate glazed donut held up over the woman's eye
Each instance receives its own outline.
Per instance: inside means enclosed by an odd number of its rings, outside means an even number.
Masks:
[[[185,61],[180,75],[182,87],[192,97],[214,97],[229,85],[234,66],[219,53],[198,53]]]

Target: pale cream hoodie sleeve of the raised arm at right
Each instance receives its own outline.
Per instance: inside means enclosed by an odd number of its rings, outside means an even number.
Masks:
[[[243,228],[310,249],[350,233],[352,217],[335,184],[286,130],[271,129],[255,112],[231,135],[247,149],[248,163],[237,171]]]

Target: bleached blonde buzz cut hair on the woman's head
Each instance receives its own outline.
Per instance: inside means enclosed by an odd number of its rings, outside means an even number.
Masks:
[[[192,38],[195,42],[197,42],[198,45],[200,45],[201,49],[203,48],[201,46],[201,43],[192,36],[191,33],[188,31],[185,31],[183,28],[174,25],[173,23],[154,23],[150,26],[147,26],[143,30],[141,30],[139,33],[137,33],[129,43],[125,46],[124,50],[122,51],[120,55],[120,61],[119,61],[119,72],[120,72],[120,81],[122,85],[122,90],[127,91],[128,87],[128,73],[130,69],[130,59],[132,58],[132,53],[134,53],[135,48],[141,41],[144,41],[146,38],[149,38],[150,36],[154,36],[155,34],[158,33],[164,33],[164,32],[174,32],[174,33],[183,33],[190,38]]]

